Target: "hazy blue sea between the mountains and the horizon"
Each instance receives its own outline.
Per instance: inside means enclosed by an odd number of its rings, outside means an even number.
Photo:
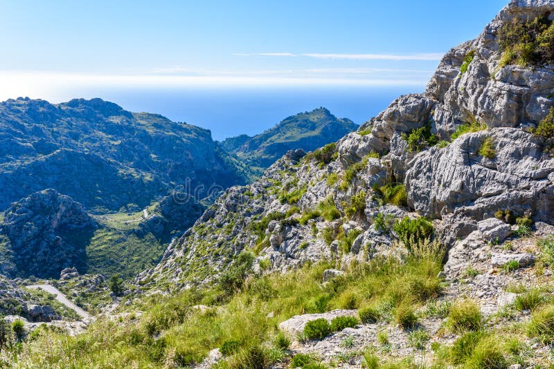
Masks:
[[[134,112],[159,113],[175,122],[210,129],[215,140],[256,135],[285,117],[328,108],[337,117],[362,124],[396,97],[425,86],[310,88],[175,88],[98,91],[97,96]]]

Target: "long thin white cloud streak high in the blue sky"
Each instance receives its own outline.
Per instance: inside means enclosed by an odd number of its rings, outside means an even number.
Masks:
[[[346,59],[346,60],[429,60],[436,61],[443,57],[442,53],[418,53],[408,55],[394,54],[325,54],[325,53],[234,53],[238,56],[271,56],[271,57],[312,57],[315,59]]]

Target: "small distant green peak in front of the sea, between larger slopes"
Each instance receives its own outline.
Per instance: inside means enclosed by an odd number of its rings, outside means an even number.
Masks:
[[[273,128],[252,138],[247,135],[228,138],[222,142],[222,146],[261,175],[264,169],[289,150],[313,151],[339,140],[356,128],[357,124],[351,120],[339,119],[326,108],[316,108],[287,117]]]

